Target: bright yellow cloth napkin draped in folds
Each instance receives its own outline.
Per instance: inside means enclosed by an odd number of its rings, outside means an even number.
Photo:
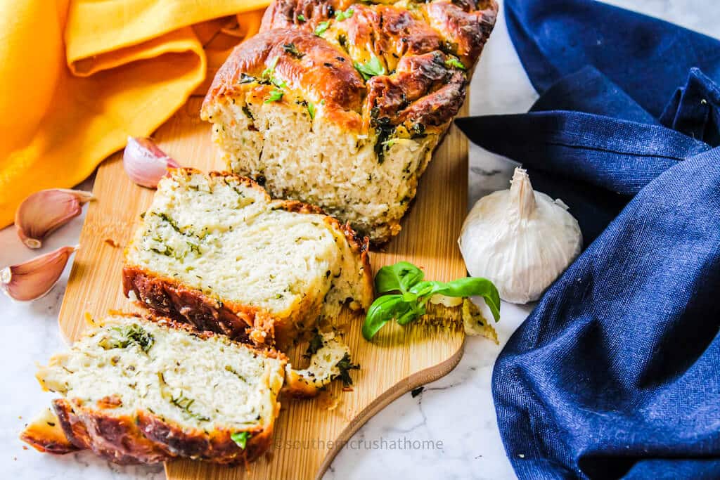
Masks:
[[[203,83],[211,19],[240,14],[235,33],[252,35],[268,3],[0,1],[0,227],[25,196],[150,135]]]

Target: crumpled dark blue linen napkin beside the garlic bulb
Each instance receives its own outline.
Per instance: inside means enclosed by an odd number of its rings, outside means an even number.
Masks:
[[[596,1],[505,14],[541,97],[457,124],[594,240],[495,363],[513,468],[720,479],[720,42]]]

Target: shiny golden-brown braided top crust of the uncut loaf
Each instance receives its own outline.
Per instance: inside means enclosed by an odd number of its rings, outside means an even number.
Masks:
[[[381,119],[404,124],[410,132],[426,127],[444,132],[464,102],[467,72],[480,57],[498,4],[409,0],[411,10],[401,5],[274,1],[266,10],[261,33],[238,45],[218,71],[203,111],[240,92],[251,91],[248,98],[263,101],[274,87],[262,82],[262,72],[277,58],[274,76],[290,89],[302,91],[308,101],[324,99],[325,114],[347,130],[377,130]],[[336,12],[348,9],[353,10],[351,17],[335,18]],[[329,29],[322,37],[313,35],[323,22]],[[294,45],[300,58],[285,45]],[[459,58],[463,67],[449,55]],[[364,82],[354,62],[364,63],[373,56],[381,60],[386,73]]]

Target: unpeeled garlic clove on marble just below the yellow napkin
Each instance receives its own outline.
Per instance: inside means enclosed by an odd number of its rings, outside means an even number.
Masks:
[[[91,199],[89,191],[48,189],[37,191],[22,201],[15,212],[17,235],[27,247],[42,247],[42,239],[62,227],[82,211]]]

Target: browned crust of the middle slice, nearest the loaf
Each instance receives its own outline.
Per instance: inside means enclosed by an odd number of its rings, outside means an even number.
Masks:
[[[182,168],[188,173],[202,173],[194,168]],[[265,189],[251,178],[239,176],[228,172],[210,172],[210,176],[232,176],[240,184],[261,191],[270,201],[271,197]],[[303,214],[325,215],[320,207],[305,204],[302,201],[283,200],[274,201],[274,206]],[[337,219],[325,215],[325,223],[341,232],[347,239],[348,245],[358,256],[364,268],[364,291],[372,302],[372,269],[369,260],[369,239],[356,235],[350,225],[343,225]],[[122,289],[128,298],[132,292],[137,298],[136,304],[150,309],[156,314],[163,315],[178,322],[187,322],[197,330],[217,332],[227,335],[233,340],[243,343],[254,343],[258,346],[276,346],[281,350],[294,340],[297,333],[312,325],[303,325],[305,321],[311,322],[318,317],[322,304],[312,302],[307,296],[294,310],[291,317],[274,317],[265,309],[253,307],[240,302],[230,302],[208,296],[198,289],[185,286],[176,279],[159,276],[139,266],[126,264],[122,268]],[[369,304],[363,305],[364,308]]]

